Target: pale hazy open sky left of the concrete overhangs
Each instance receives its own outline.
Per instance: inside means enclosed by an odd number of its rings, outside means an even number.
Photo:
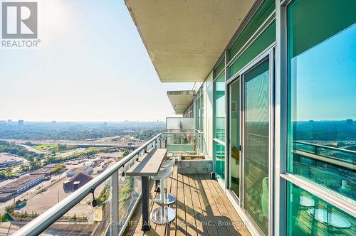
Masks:
[[[122,0],[38,1],[40,48],[0,49],[0,119],[164,120],[173,109]]]

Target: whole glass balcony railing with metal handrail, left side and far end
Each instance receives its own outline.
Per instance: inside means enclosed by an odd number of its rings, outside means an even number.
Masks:
[[[201,133],[157,134],[14,235],[123,235],[141,198],[141,178],[125,172],[150,149],[197,154]]]

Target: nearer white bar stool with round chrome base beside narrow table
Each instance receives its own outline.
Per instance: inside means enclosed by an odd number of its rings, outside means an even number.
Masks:
[[[167,206],[167,196],[165,196],[164,192],[166,192],[166,188],[164,186],[164,181],[167,181],[170,175],[173,173],[173,167],[161,169],[157,176],[152,177],[153,179],[159,179],[164,191],[161,191],[159,195],[161,195],[160,199],[163,199],[163,202],[160,201],[160,207],[152,210],[151,220],[155,222],[157,225],[167,225],[169,222],[172,222],[174,218],[176,218],[176,213],[172,208]]]

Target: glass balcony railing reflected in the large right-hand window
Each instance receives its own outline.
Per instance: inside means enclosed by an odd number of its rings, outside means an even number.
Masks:
[[[356,151],[346,148],[293,141],[293,159],[288,162],[288,171],[355,199]]]

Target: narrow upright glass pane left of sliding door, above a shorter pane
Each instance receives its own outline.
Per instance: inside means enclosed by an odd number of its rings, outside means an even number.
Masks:
[[[214,82],[215,138],[225,141],[225,73]]]

